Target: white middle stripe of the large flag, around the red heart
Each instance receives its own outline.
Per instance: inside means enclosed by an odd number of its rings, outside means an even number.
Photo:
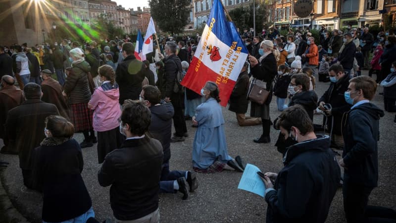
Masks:
[[[208,25],[205,26],[203,32],[202,32],[202,38],[199,41],[199,44],[197,46],[197,51],[195,52],[194,56],[199,59],[199,56],[201,56],[201,62],[205,64],[208,68],[213,70],[214,72],[222,75],[222,76],[228,76],[228,79],[237,81],[238,76],[242,70],[242,67],[244,66],[244,62],[241,62],[241,59],[246,59],[247,54],[245,53],[238,53],[235,50],[232,50],[232,46],[228,46],[221,42],[216,35],[214,35],[212,32],[210,32],[210,35],[208,39],[206,40],[207,33],[209,32],[209,27]],[[206,42],[206,47],[203,49],[203,46]],[[212,61],[210,59],[210,55],[207,54],[207,47],[209,45],[212,45],[213,47],[219,48],[219,53],[221,56],[221,59],[218,61]],[[242,46],[240,46],[242,47]],[[242,50],[242,49],[241,49]],[[230,72],[231,71],[231,72]]]

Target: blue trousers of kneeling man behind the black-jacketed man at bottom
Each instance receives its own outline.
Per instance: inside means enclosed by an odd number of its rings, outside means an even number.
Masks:
[[[169,163],[162,164],[161,179],[159,181],[159,192],[176,193],[173,189],[173,182],[180,177],[186,177],[186,171],[169,171]]]

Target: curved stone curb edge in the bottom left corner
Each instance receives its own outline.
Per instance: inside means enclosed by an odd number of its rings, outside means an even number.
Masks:
[[[0,169],[0,175],[4,169]],[[5,191],[0,177],[0,222],[2,223],[28,223],[21,213],[12,205]]]

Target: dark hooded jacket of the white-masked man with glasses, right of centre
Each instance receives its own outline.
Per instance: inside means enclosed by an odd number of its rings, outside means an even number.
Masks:
[[[313,120],[313,110],[318,107],[316,103],[318,101],[318,96],[314,91],[302,91],[298,92],[292,97],[289,103],[289,107],[294,105],[301,105],[304,107],[305,111],[308,113],[311,120]]]

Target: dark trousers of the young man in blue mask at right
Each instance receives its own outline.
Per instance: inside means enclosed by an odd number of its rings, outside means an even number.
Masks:
[[[343,197],[344,211],[347,223],[366,222],[365,211],[373,187],[365,187],[360,184],[344,182]]]

